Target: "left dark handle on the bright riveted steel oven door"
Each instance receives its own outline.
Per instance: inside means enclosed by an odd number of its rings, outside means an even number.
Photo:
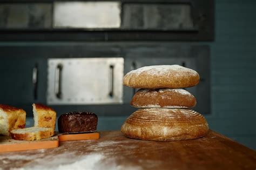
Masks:
[[[62,69],[63,65],[58,64],[55,71],[55,95],[57,98],[62,98]]]

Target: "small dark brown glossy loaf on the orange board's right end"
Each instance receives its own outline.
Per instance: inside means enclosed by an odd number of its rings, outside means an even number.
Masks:
[[[61,133],[94,132],[97,130],[98,117],[91,112],[70,112],[60,115],[58,129]]]

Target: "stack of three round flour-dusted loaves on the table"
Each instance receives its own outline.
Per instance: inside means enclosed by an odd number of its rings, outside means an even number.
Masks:
[[[199,83],[199,74],[179,65],[146,66],[124,76],[124,85],[142,88],[131,105],[139,110],[122,126],[126,137],[142,140],[185,140],[203,137],[208,124],[191,110],[196,98],[186,90]]]

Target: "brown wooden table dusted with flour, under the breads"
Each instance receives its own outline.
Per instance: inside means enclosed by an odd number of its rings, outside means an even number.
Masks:
[[[216,132],[195,140],[155,142],[100,132],[99,140],[0,154],[0,169],[256,169],[256,152]]]

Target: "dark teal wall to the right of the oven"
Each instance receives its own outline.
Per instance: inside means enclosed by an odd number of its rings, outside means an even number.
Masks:
[[[256,149],[256,1],[215,1],[210,127]]]

